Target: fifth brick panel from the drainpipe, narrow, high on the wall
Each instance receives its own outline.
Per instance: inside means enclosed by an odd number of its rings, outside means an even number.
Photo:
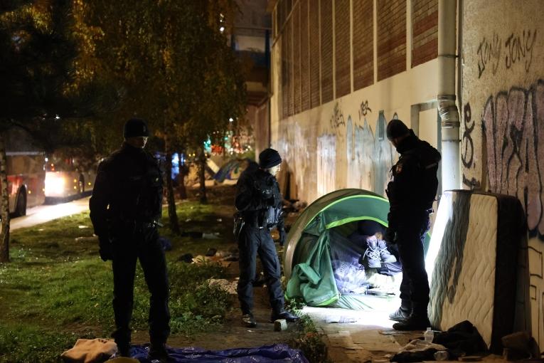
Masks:
[[[321,102],[334,98],[332,0],[321,1]]]

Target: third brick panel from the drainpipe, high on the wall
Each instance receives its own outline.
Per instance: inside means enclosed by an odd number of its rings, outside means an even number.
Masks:
[[[374,83],[373,0],[353,1],[353,90]]]

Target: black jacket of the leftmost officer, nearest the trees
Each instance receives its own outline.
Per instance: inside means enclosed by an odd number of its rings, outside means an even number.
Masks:
[[[105,236],[110,228],[157,221],[162,212],[162,189],[157,159],[124,143],[98,166],[89,201],[95,234]]]

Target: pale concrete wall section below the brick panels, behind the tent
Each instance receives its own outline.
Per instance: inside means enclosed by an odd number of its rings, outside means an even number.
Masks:
[[[348,187],[384,194],[389,169],[398,157],[385,137],[386,122],[398,117],[415,126],[412,106],[436,97],[436,74],[433,60],[283,120],[274,93],[272,146],[292,172],[297,198],[311,202]],[[277,84],[273,82],[276,88]],[[420,132],[425,130],[438,147],[436,107],[419,113]]]

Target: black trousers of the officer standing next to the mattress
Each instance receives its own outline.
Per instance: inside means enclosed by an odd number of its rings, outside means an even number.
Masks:
[[[425,270],[423,241],[430,228],[429,212],[414,211],[404,217],[397,231],[397,246],[402,265],[401,306],[403,309],[412,310],[415,315],[427,316],[430,289]]]

